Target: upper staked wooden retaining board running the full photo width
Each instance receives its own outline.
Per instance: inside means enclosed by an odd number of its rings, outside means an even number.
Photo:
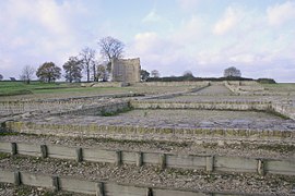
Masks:
[[[1,152],[8,150],[9,143],[0,143]],[[227,157],[213,155],[176,155],[161,152],[139,152],[126,150],[108,150],[83,147],[64,147],[58,145],[37,145],[28,143],[15,144],[14,154],[35,157],[49,157],[59,159],[71,159],[76,161],[108,162],[114,164],[153,164],[161,168],[180,168],[192,170],[222,171],[222,172],[249,172],[249,173],[275,173],[295,175],[295,160],[287,159],[263,159],[249,157]],[[259,164],[263,162],[263,168]]]

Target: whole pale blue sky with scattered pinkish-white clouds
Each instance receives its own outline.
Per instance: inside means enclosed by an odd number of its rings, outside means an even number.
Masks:
[[[62,66],[111,36],[125,58],[161,76],[244,77],[295,82],[295,0],[0,0],[0,74],[25,65]]]

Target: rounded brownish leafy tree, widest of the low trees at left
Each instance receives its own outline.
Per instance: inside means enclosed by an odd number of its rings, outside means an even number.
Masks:
[[[38,68],[36,75],[40,81],[50,83],[60,78],[60,72],[61,69],[58,68],[55,63],[45,62]]]

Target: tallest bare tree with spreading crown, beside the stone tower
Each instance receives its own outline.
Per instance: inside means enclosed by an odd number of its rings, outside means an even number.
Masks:
[[[114,37],[104,37],[99,39],[98,45],[101,47],[101,54],[108,61],[113,58],[122,58],[123,42]],[[107,64],[107,71],[110,72],[110,63]]]

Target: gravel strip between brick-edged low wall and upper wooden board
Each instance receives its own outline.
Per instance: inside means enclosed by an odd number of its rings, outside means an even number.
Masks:
[[[220,156],[240,156],[259,158],[295,159],[295,145],[286,144],[256,144],[256,143],[170,143],[170,142],[137,142],[115,140],[104,138],[74,138],[36,135],[7,135],[1,136],[0,142],[16,142],[31,144],[54,144],[70,147],[91,147],[98,149],[120,149],[129,151],[172,152],[181,155],[210,154]]]

